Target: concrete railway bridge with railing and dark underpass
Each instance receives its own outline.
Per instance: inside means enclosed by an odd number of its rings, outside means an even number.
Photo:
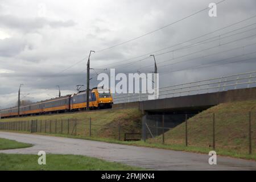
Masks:
[[[209,107],[256,100],[256,71],[167,86],[159,88],[157,100],[147,98],[147,94],[114,96],[113,108],[138,108],[143,113],[143,123],[158,128],[164,120],[164,127],[170,129]],[[150,131],[148,126],[143,127]]]

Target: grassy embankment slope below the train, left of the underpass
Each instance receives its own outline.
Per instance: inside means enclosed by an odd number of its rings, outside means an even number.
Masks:
[[[56,134],[61,134],[62,119],[62,134],[88,137],[90,118],[92,118],[91,134],[93,137],[118,139],[119,125],[121,126],[121,139],[123,139],[124,133],[141,133],[142,114],[138,109],[113,109],[71,114],[38,115],[34,117],[6,118],[0,119],[0,121],[23,121],[19,127],[22,131],[27,131],[31,125],[30,121],[37,119],[38,133],[56,132]],[[75,123],[77,123],[76,129]]]

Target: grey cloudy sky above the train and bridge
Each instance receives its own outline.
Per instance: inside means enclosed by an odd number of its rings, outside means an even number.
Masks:
[[[20,84],[21,97],[32,101],[56,97],[56,85],[63,95],[75,93],[86,84],[90,50],[92,86],[110,68],[154,71],[151,53],[160,86],[255,71],[256,17],[248,19],[255,0],[226,0],[217,17],[205,10],[171,24],[219,1],[0,0],[0,109],[16,104]]]

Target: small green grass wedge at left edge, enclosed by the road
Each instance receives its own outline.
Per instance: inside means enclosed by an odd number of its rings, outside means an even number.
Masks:
[[[16,142],[15,140],[9,140],[0,138],[0,150],[14,149],[14,148],[26,148],[31,147],[32,144]]]

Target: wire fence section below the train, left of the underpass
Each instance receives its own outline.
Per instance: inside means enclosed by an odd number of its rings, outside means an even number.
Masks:
[[[30,120],[15,122],[0,122],[0,130],[5,131],[22,131],[28,133],[47,133],[63,134],[81,137],[103,137],[118,140],[138,140],[140,135],[129,136],[129,134],[138,134],[141,128],[130,129],[125,123],[112,122],[106,125],[99,125],[89,118],[84,119],[47,119],[47,120]]]

